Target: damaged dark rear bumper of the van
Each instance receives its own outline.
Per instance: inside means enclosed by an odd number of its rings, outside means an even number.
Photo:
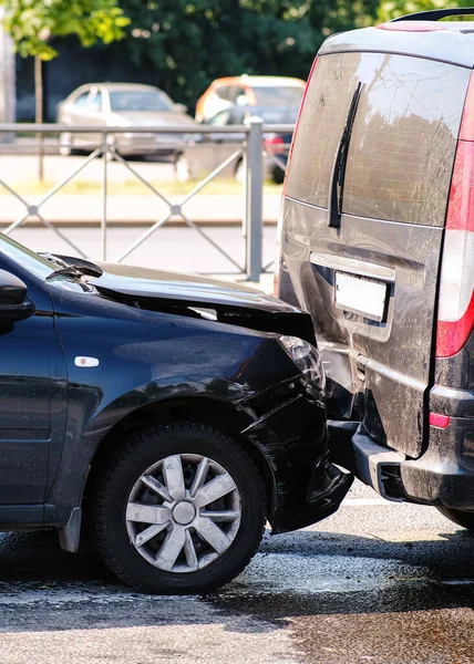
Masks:
[[[359,423],[330,422],[329,430],[331,460],[383,498],[474,510],[474,418],[430,427],[429,448],[418,459],[379,445]]]

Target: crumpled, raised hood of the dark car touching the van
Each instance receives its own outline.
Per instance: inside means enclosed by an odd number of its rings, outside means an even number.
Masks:
[[[102,277],[87,281],[113,300],[182,315],[196,315],[196,308],[213,310],[213,320],[218,322],[295,334],[315,343],[309,314],[247,286],[196,274],[99,264],[104,270]]]

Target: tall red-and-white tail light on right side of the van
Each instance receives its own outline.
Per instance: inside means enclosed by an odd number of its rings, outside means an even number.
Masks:
[[[474,74],[471,75],[447,203],[437,303],[436,357],[452,357],[474,323]]]

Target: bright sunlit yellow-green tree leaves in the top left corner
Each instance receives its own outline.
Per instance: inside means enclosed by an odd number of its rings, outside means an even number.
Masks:
[[[0,0],[3,25],[22,56],[52,60],[58,51],[50,39],[75,34],[83,46],[111,43],[128,25],[116,0]]]

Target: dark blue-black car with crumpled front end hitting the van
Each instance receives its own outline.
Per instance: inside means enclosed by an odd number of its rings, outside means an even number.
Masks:
[[[81,522],[151,592],[229,581],[333,512],[310,318],[244,286],[51,255],[0,235],[0,529]],[[84,518],[83,518],[84,517]]]

